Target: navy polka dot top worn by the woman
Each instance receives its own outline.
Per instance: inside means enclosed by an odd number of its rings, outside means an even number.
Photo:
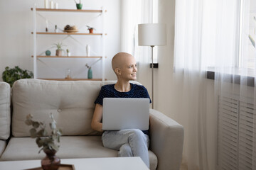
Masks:
[[[120,92],[114,89],[114,84],[107,84],[102,86],[99,96],[95,100],[95,104],[103,105],[103,98],[149,98],[149,93],[142,85],[131,84],[131,90],[127,92]],[[142,130],[144,134],[149,135],[148,130]]]

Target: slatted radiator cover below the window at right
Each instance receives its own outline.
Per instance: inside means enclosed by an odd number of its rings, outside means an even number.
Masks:
[[[256,115],[253,100],[218,97],[218,169],[256,169]]]

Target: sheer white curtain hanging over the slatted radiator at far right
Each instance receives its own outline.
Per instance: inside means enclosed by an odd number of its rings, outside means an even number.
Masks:
[[[219,16],[222,20],[217,23],[218,67],[214,70],[219,102],[218,169],[256,169],[256,50],[249,38],[256,37],[251,8],[256,10],[256,2],[224,1],[220,5],[225,17]]]

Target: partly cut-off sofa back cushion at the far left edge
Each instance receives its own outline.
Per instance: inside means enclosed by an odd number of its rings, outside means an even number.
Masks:
[[[0,82],[0,140],[7,140],[10,136],[11,124],[11,88],[6,82]]]

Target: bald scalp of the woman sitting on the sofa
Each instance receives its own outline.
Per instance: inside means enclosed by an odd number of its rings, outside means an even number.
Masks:
[[[116,68],[121,69],[126,64],[129,64],[129,63],[127,63],[127,60],[129,60],[130,57],[133,57],[133,56],[128,54],[127,52],[118,52],[112,58],[112,69],[113,70]]]

